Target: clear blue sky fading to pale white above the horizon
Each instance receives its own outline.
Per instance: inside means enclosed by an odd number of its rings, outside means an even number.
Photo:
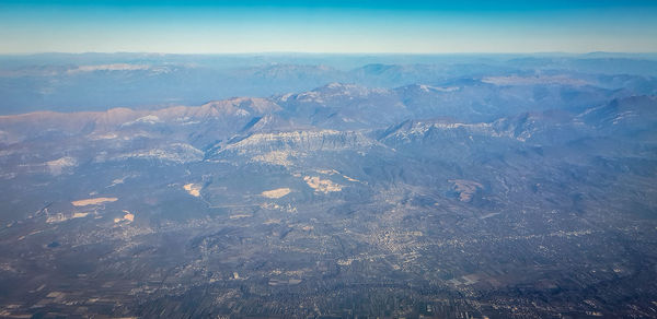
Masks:
[[[0,54],[657,52],[657,1],[0,0]]]

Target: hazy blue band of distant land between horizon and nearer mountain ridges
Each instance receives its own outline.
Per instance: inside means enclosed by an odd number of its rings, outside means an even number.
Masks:
[[[3,97],[0,113],[200,105],[235,96],[300,93],[332,82],[388,90],[387,94],[395,96],[393,99],[414,94],[416,96],[407,102],[397,102],[428,103],[424,106],[427,108],[441,104],[442,111],[446,107],[472,107],[463,103],[484,104],[486,98],[505,101],[504,105],[493,106],[497,108],[517,107],[527,102],[542,104],[542,108],[558,108],[562,103],[551,106],[555,99],[578,103],[575,96],[566,97],[564,91],[588,94],[591,98],[654,94],[655,58],[654,55],[610,54],[4,56],[0,58],[0,95]],[[528,90],[538,86],[541,88]],[[420,95],[428,101],[422,101]],[[525,101],[530,95],[532,99]],[[440,98],[451,98],[450,105]]]

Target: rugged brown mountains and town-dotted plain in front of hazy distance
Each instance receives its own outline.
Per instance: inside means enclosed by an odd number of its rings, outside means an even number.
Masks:
[[[484,71],[1,116],[0,316],[657,317],[655,86]]]

